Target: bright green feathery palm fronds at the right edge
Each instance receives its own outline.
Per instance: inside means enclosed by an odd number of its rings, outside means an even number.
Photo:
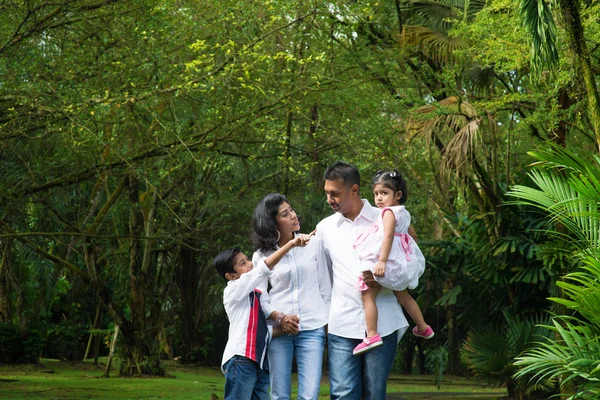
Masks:
[[[600,398],[600,157],[591,161],[551,147],[532,152],[530,176],[537,188],[515,186],[511,195],[542,209],[549,222],[564,229],[554,234],[576,249],[580,268],[558,282],[563,297],[552,298],[565,312],[549,326],[553,337],[517,358],[517,379],[531,375],[538,383],[558,380],[573,387],[570,398]],[[552,230],[550,231],[552,232]]]

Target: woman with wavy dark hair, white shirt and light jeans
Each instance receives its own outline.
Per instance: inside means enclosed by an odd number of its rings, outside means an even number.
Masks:
[[[300,222],[286,197],[272,193],[254,209],[252,228],[256,263],[293,239]],[[317,399],[331,299],[331,275],[321,240],[313,236],[306,247],[287,253],[269,283],[268,294],[263,290],[263,307],[274,322],[268,348],[271,398],[291,398],[295,356],[298,399]]]

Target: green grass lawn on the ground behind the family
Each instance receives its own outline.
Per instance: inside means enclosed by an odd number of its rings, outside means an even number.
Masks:
[[[118,365],[118,361],[114,364]],[[0,399],[200,399],[223,398],[225,379],[218,368],[183,367],[164,362],[169,378],[119,378],[117,371],[104,378],[104,364],[91,362],[71,365],[43,359],[38,365],[0,366]],[[294,391],[296,387],[294,385]],[[447,393],[444,397],[442,392]],[[427,376],[390,377],[388,393],[395,398],[458,398],[452,393],[481,394],[481,399],[506,395],[505,389],[485,388],[464,378],[446,377],[441,390]],[[329,383],[323,379],[320,398],[329,398]],[[400,397],[397,397],[400,396]],[[214,397],[212,397],[214,398]]]

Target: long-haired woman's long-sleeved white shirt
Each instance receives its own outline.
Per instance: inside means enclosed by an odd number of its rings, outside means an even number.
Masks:
[[[256,251],[252,262],[257,263],[270,254]],[[317,329],[327,324],[331,273],[319,238],[313,237],[305,247],[294,247],[286,253],[273,268],[269,280],[272,286],[269,293],[267,282],[259,287],[267,316],[273,311],[296,314],[300,318],[300,330]]]

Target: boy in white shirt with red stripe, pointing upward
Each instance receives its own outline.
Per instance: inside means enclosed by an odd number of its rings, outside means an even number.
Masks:
[[[286,243],[256,267],[237,248],[220,252],[213,264],[226,279],[223,305],[229,319],[229,339],[221,369],[225,374],[225,400],[269,399],[267,344],[270,332],[261,303],[261,291],[273,267],[296,246],[306,246],[310,236],[300,235]]]

